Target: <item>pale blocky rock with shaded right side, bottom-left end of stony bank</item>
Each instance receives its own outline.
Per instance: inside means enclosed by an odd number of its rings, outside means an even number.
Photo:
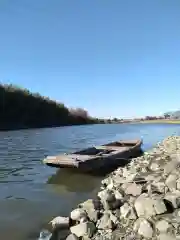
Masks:
[[[75,234],[77,237],[92,237],[95,230],[96,227],[92,222],[80,223],[70,228],[71,233]]]

